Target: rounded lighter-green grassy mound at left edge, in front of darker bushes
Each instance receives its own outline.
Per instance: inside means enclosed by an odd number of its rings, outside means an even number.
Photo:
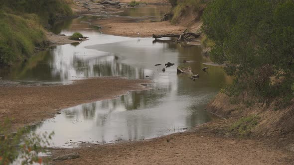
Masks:
[[[36,15],[0,13],[0,64],[11,64],[32,55],[35,46],[45,45],[45,39]]]

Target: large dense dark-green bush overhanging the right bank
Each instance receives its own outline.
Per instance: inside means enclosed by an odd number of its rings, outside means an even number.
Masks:
[[[232,95],[249,90],[261,101],[294,97],[294,0],[213,0],[202,31],[210,55],[234,76]],[[232,92],[233,91],[233,92]],[[236,92],[237,91],[237,92]]]

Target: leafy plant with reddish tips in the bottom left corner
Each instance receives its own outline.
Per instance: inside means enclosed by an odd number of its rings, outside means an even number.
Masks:
[[[5,119],[0,125],[0,165],[8,165],[16,160],[21,161],[22,165],[42,163],[38,154],[45,152],[45,146],[50,145],[48,140],[53,135],[54,133],[29,134],[25,129],[11,134],[11,121]]]

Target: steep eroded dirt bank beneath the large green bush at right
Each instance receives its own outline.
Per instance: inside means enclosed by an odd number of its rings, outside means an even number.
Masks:
[[[236,98],[219,93],[207,105],[207,110],[226,118],[227,124],[224,127],[230,134],[240,136],[245,131],[245,136],[252,139],[271,138],[275,142],[278,141],[284,150],[294,152],[294,106],[277,109],[273,105],[277,104],[276,102],[271,105],[249,104],[254,102],[253,100],[256,102],[256,98],[246,93]],[[239,127],[232,129],[236,123]]]

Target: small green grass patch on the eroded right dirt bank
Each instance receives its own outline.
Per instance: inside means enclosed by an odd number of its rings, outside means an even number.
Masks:
[[[259,119],[257,115],[242,117],[230,127],[230,131],[237,131],[241,137],[248,136],[257,126]]]

